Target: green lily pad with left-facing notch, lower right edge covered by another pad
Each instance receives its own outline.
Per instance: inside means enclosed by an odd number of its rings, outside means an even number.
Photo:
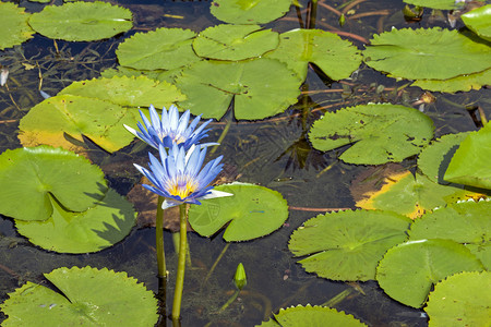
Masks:
[[[410,219],[390,211],[357,210],[319,215],[290,238],[289,250],[309,272],[334,280],[375,279],[384,253],[406,240]]]

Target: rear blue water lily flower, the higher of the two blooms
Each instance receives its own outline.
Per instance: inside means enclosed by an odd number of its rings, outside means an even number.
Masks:
[[[128,125],[124,125],[130,133],[158,149],[158,145],[163,144],[164,147],[171,148],[172,144],[178,144],[183,146],[184,149],[189,149],[193,144],[199,144],[199,142],[208,136],[205,130],[206,125],[212,121],[205,121],[200,128],[196,129],[200,122],[201,114],[194,118],[194,120],[188,125],[190,119],[190,111],[187,110],[179,118],[179,110],[175,105],[169,107],[167,112],[166,108],[161,110],[161,118],[158,117],[157,111],[154,106],[149,106],[151,120],[143,114],[140,110],[140,116],[142,117],[143,124],[137,123],[140,131],[136,131]],[[201,147],[217,145],[218,143],[205,143],[201,144]]]

